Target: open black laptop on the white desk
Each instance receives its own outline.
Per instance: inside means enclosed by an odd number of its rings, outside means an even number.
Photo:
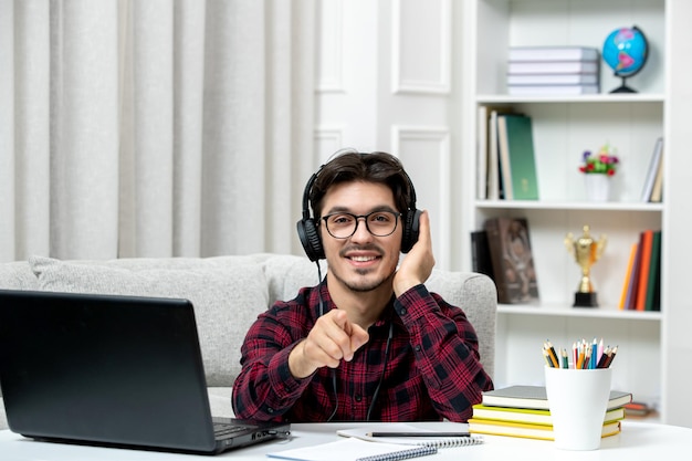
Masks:
[[[212,418],[187,300],[0,290],[0,385],[41,440],[217,453],[290,430]]]

